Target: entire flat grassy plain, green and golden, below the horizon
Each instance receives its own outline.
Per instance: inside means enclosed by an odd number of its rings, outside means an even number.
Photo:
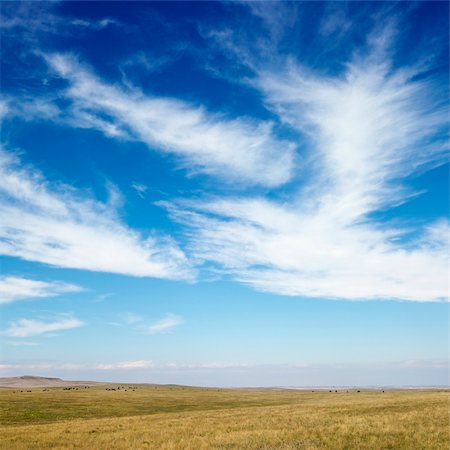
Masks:
[[[3,388],[0,446],[448,450],[449,394],[112,384]]]

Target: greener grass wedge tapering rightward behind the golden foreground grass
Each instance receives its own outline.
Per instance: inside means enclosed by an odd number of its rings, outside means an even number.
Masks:
[[[115,391],[110,386],[31,392],[0,390],[0,424],[49,423],[77,418],[121,417],[162,412],[202,411],[292,403],[299,391],[207,389],[179,386],[136,386]],[[125,391],[125,389],[127,389]],[[15,392],[14,392],[15,391]],[[303,394],[304,396],[304,394]]]

